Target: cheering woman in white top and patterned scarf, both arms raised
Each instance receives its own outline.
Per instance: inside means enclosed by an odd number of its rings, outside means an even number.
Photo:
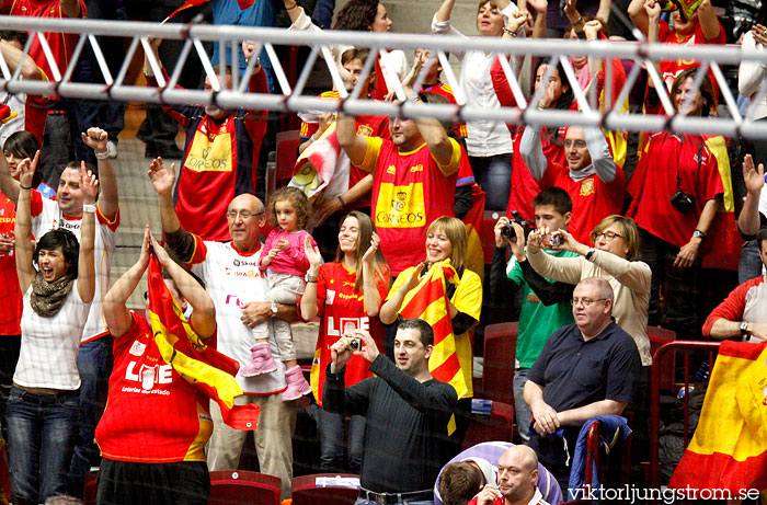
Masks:
[[[81,169],[81,244],[60,228],[32,248],[31,188],[39,152],[19,167],[15,255],[24,294],[21,355],[8,400],[13,503],[37,504],[67,493],[77,435],[80,336],[95,289],[93,241],[99,183]]]

